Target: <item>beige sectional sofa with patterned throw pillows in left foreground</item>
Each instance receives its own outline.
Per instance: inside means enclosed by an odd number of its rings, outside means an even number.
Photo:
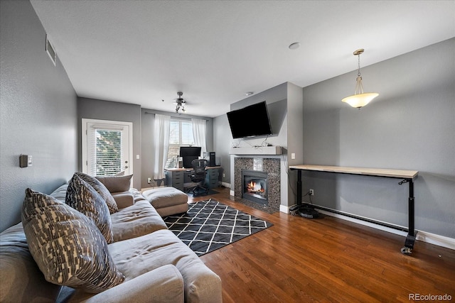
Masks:
[[[60,238],[55,236],[53,229],[62,226],[68,228],[67,223],[72,220],[68,217],[60,220],[58,218],[62,212],[60,209],[63,209],[63,212],[68,211],[70,218],[77,219],[74,221],[75,225],[82,229],[75,235],[76,237],[83,236],[85,233],[90,236],[93,231],[93,234],[99,238],[106,238],[105,233],[98,231],[100,223],[87,219],[92,214],[80,216],[78,211],[68,207],[68,196],[71,199],[68,192],[74,191],[74,188],[74,184],[63,184],[49,196],[33,192],[31,189],[26,190],[22,223],[11,226],[0,234],[0,302],[222,301],[220,277],[205,266],[188,246],[168,231],[154,206],[135,189],[109,193],[117,204],[117,211],[109,209],[107,223],[111,226],[110,233],[107,241],[101,240],[101,245],[98,247],[104,249],[105,256],[102,260],[105,261],[100,262],[101,264],[90,263],[100,258],[101,250],[92,255],[90,251],[84,255],[86,250],[81,250],[82,253],[70,251],[70,253],[58,255],[58,251],[55,251],[56,247],[66,250],[67,241],[68,243],[74,241],[73,238],[70,240],[64,238],[68,235],[67,229]],[[80,197],[78,195],[79,193],[75,194],[74,199],[85,197],[83,194],[79,195]],[[43,203],[45,206],[42,205]],[[85,202],[82,201],[82,203]],[[50,209],[53,213],[44,216],[44,212],[40,212],[42,209],[46,211]],[[58,216],[55,216],[55,209],[58,209]],[[36,221],[42,219],[43,224],[36,224]],[[54,222],[59,220],[60,226],[53,226]],[[93,222],[96,223],[93,224]],[[40,226],[50,228],[51,231],[43,233]],[[49,236],[50,233],[52,236]],[[52,241],[48,237],[53,237]],[[47,240],[44,241],[44,238]],[[55,243],[53,243],[54,240]],[[79,246],[83,246],[80,243]],[[82,275],[76,271],[68,274],[68,270],[65,269],[56,279],[66,280],[55,283],[52,277],[54,272],[50,270],[53,268],[53,263],[49,263],[49,260],[55,259],[57,260],[55,262],[60,262],[62,258],[77,258],[77,254],[82,254],[83,257],[82,261],[76,261],[82,264],[77,264],[77,268],[88,268],[88,272]],[[43,255],[45,258],[41,259]],[[87,267],[88,259],[90,262]],[[108,263],[111,265],[110,269],[114,270],[112,273],[114,282],[110,285],[107,285],[110,282],[103,280],[108,279],[102,276],[107,272],[105,266]],[[61,264],[58,266],[62,267]],[[103,273],[95,277],[92,272],[97,270]],[[81,282],[84,280],[84,275],[90,275],[87,278],[88,282]],[[73,285],[69,287],[68,284],[71,283]]]

